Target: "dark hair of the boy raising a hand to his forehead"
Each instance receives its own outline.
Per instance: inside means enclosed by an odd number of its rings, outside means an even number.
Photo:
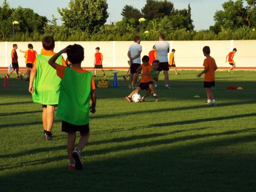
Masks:
[[[84,59],[84,48],[78,44],[67,46],[67,59],[72,64],[81,63]]]

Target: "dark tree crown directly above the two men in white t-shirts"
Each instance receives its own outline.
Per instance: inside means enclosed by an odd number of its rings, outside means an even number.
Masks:
[[[147,0],[141,12],[146,19],[152,20],[172,14],[173,3],[167,0]]]

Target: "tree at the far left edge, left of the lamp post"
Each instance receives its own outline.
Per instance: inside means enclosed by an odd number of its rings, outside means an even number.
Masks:
[[[13,9],[10,8],[9,3],[6,0],[3,1],[3,5],[0,6],[0,32],[1,38],[6,39],[6,36],[12,34],[12,15]]]

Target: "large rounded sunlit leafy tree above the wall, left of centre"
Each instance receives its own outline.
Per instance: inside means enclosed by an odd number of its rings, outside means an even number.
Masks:
[[[95,33],[108,19],[107,0],[70,0],[69,8],[58,8],[58,12],[72,32]]]

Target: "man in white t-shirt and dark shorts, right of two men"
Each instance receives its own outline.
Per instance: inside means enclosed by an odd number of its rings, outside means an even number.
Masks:
[[[159,36],[159,41],[156,42],[155,48],[157,52],[157,60],[159,60],[159,68],[157,69],[157,74],[159,75],[160,71],[164,73],[165,80],[165,88],[170,89],[171,87],[168,85],[169,82],[169,62],[168,62],[168,53],[170,51],[170,45],[166,41],[164,41],[165,35],[163,33]],[[154,88],[157,88],[157,82],[155,82]]]

